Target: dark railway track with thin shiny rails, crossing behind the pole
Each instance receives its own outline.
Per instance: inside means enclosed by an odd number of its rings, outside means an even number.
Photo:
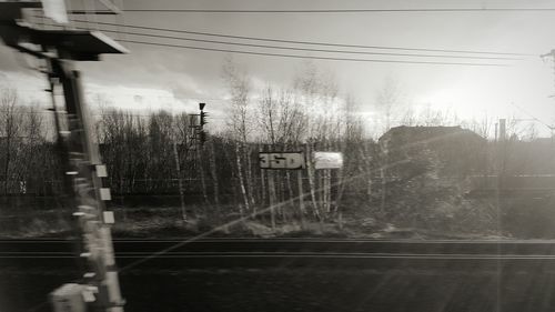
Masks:
[[[0,263],[67,264],[71,240],[0,240]],[[349,239],[114,240],[120,266],[511,268],[555,270],[555,241],[408,241]]]

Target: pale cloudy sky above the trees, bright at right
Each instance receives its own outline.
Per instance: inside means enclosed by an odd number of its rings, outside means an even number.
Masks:
[[[337,1],[337,0],[203,0],[203,1],[115,1],[132,9],[222,9],[222,10],[294,10],[294,9],[417,9],[417,8],[555,8],[555,1],[524,0],[413,0],[413,1]],[[81,1],[68,1],[79,9]],[[92,3],[92,2],[91,2]],[[95,8],[100,9],[100,2]],[[122,4],[121,4],[122,3]],[[93,6],[93,4],[90,4]],[[88,27],[103,28],[94,21],[155,27],[199,32],[223,33],[295,41],[333,42],[384,47],[497,51],[526,53],[522,60],[466,60],[407,58],[365,54],[339,54],[314,51],[287,51],[262,48],[230,47],[216,43],[188,42],[174,39],[144,38],[108,33],[114,39],[185,44],[216,49],[287,53],[302,57],[362,58],[381,60],[424,60],[474,63],[507,63],[507,67],[447,64],[411,64],[313,60],[314,67],[331,72],[341,97],[357,100],[364,112],[375,110],[376,98],[386,81],[395,81],[401,90],[403,108],[433,108],[451,111],[462,119],[521,118],[538,119],[555,124],[555,76],[553,64],[539,56],[555,49],[555,11],[521,12],[357,12],[357,13],[191,13],[124,12],[113,16],[78,16],[89,20]],[[81,24],[83,26],[83,24]],[[320,49],[291,43],[256,42],[208,38],[192,34],[162,33],[149,30],[127,31],[181,36],[198,39],[274,44]],[[123,109],[194,112],[198,102],[206,102],[214,118],[224,118],[228,92],[222,79],[225,58],[244,67],[255,85],[290,87],[306,60],[268,56],[246,56],[214,51],[122,43],[130,50],[124,56],[105,56],[102,62],[81,62],[87,99],[91,105],[108,102]],[[413,53],[407,51],[385,51]],[[414,52],[416,53],[416,52]],[[432,52],[420,52],[431,54]],[[435,53],[434,53],[435,54]],[[461,53],[454,53],[461,56]],[[473,54],[477,56],[477,54]],[[491,57],[491,56],[490,56]],[[19,90],[26,99],[48,102],[46,79],[29,69],[33,61],[0,47],[0,87]],[[99,99],[103,99],[100,101]],[[105,104],[105,103],[104,103]],[[543,125],[539,124],[539,128]],[[543,130],[546,130],[543,127]]]

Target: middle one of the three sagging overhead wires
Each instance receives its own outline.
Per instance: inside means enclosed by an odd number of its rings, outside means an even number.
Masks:
[[[56,27],[56,24],[46,24],[46,23],[41,23],[41,26],[53,26],[53,27]],[[87,29],[87,30],[89,29],[89,28],[84,28],[84,27],[75,27],[75,28],[77,29]],[[231,42],[231,41],[206,40],[206,39],[198,39],[198,38],[183,38],[183,37],[164,36],[164,34],[130,32],[130,31],[123,31],[123,30],[100,29],[100,31],[113,32],[113,33],[123,33],[123,34],[132,34],[132,36],[142,36],[142,37],[151,37],[151,38],[184,40],[184,41],[193,41],[193,42],[205,42],[205,43],[218,43],[218,44],[230,44],[230,46],[251,47],[251,48],[265,48],[265,49],[279,49],[279,50],[293,50],[293,51],[310,51],[310,52],[326,52],[326,53],[347,53],[347,54],[366,54],[366,56],[389,56],[389,57],[416,57],[416,58],[447,58],[447,59],[474,59],[474,60],[522,60],[522,59],[518,59],[518,58],[507,58],[507,57],[476,57],[476,56],[453,56],[453,54],[414,54],[414,53],[392,53],[392,52],[370,52],[370,51],[346,51],[346,50],[330,50],[330,49],[311,49],[311,48],[280,47],[280,46],[269,46],[269,44],[252,44],[252,43],[241,43],[241,42]]]

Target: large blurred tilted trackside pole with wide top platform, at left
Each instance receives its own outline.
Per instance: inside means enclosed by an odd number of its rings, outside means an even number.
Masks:
[[[54,118],[64,160],[65,198],[75,209],[73,215],[81,231],[79,256],[87,268],[78,283],[64,284],[52,292],[53,311],[122,312],[124,301],[110,231],[114,218],[104,207],[111,195],[110,189],[102,187],[107,171],[90,135],[81,73],[74,69],[74,61],[98,61],[100,54],[125,53],[127,49],[99,32],[34,28],[23,22],[24,11],[31,8],[39,9],[42,4],[38,1],[0,2],[0,38],[7,46],[46,62],[43,72],[52,95],[57,88],[63,90],[65,111],[56,110]],[[60,18],[61,14],[65,12],[60,10],[52,18],[67,20],[67,17]]]

